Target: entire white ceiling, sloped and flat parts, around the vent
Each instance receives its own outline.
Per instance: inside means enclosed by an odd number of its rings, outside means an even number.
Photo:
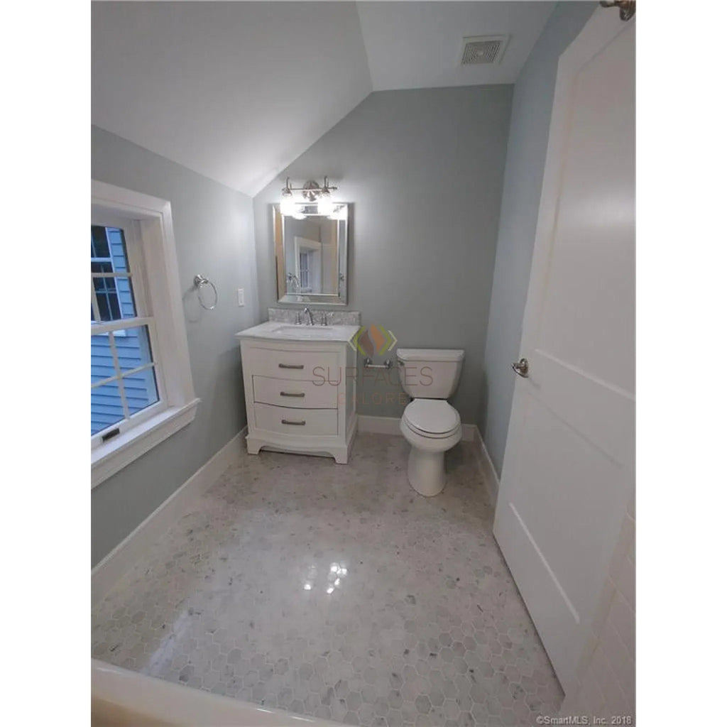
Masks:
[[[93,2],[92,123],[254,196],[371,90],[512,83],[554,4]]]

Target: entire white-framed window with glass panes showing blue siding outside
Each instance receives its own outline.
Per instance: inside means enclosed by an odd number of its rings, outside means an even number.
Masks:
[[[92,486],[188,425],[194,395],[168,201],[92,182]]]

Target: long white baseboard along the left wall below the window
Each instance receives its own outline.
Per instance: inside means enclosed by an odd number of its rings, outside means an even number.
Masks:
[[[236,460],[244,446],[247,427],[239,431],[225,446],[176,489],[136,529],[127,535],[111,553],[91,571],[91,603],[102,601],[114,584],[128,572],[142,553],[153,545],[180,518],[190,502],[222,475]]]

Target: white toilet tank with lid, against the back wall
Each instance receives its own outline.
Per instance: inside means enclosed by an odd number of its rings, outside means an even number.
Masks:
[[[465,352],[459,348],[400,348],[399,381],[415,399],[448,399],[457,388]]]

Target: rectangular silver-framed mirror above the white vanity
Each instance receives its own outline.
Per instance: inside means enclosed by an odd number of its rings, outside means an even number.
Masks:
[[[334,214],[295,217],[273,204],[279,303],[346,305],[348,302],[348,216],[350,204],[336,203]]]

